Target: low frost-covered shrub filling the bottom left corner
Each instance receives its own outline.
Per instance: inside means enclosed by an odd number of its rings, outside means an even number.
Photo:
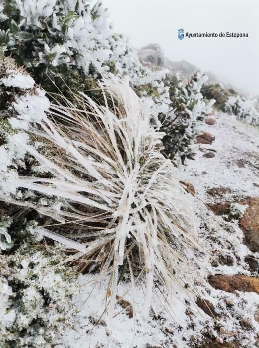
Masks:
[[[0,347],[50,348],[60,332],[71,326],[70,298],[78,293],[76,276],[58,265],[64,254],[22,245],[0,255]]]

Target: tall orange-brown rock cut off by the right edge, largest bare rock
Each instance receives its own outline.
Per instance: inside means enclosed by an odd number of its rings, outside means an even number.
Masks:
[[[252,252],[259,252],[259,197],[249,200],[249,207],[240,220],[240,228],[244,232],[245,243]]]

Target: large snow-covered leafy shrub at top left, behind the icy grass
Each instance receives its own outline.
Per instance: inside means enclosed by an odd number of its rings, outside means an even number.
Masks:
[[[0,44],[48,92],[74,88],[88,93],[104,75],[127,75],[157,122],[170,103],[166,71],[143,67],[128,39],[114,32],[101,2],[90,2],[0,0]]]

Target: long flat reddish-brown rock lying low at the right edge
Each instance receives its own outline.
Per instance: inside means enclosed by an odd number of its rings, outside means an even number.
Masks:
[[[259,294],[259,278],[249,277],[247,275],[211,275],[208,278],[211,286],[215,289],[226,292],[235,290],[243,292],[256,292]]]

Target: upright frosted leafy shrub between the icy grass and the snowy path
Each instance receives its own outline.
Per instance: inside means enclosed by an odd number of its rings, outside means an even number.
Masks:
[[[175,77],[173,78],[174,85]],[[197,71],[185,86],[180,82],[175,93],[173,94],[173,90],[170,92],[172,111],[162,124],[162,129],[166,132],[163,137],[165,153],[169,158],[178,154],[182,163],[186,158],[193,159],[190,144],[197,133],[196,124],[211,112],[211,106],[215,102],[214,99],[206,100],[200,92],[207,79],[205,74]]]

